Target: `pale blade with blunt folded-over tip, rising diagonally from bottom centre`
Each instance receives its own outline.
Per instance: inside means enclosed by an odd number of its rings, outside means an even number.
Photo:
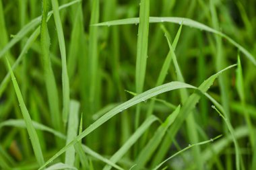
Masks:
[[[131,146],[135,142],[137,142],[138,138],[143,134],[143,132],[145,132],[150,127],[150,125],[156,120],[158,120],[158,118],[156,118],[156,116],[154,115],[151,115],[150,117],[148,117],[143,122],[143,124],[141,124],[141,126],[137,128],[137,130],[133,133],[133,135],[131,135],[131,137],[127,140],[127,142],[125,142],[125,144],[123,144],[123,146],[121,146],[121,148],[119,148],[119,150],[110,158],[110,161],[112,161],[113,163],[117,163],[123,157],[123,155],[127,153],[129,148],[131,148]],[[103,170],[109,170],[109,169],[111,169],[110,166],[105,166],[103,168]]]

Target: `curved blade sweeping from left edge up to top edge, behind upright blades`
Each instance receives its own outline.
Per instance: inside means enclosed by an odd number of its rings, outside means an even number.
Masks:
[[[75,0],[75,1],[71,1],[69,3],[66,3],[64,5],[61,5],[59,7],[58,10],[61,9],[65,9],[75,3],[79,3],[82,0]],[[51,17],[51,15],[53,14],[53,11],[49,11],[48,16]],[[22,30],[20,30],[13,39],[11,39],[11,41],[9,41],[9,43],[0,51],[0,58],[2,58],[2,56],[12,47],[14,46],[17,42],[19,42],[22,38],[24,38],[24,36],[26,36],[26,34],[28,34],[28,32],[30,32],[31,30],[33,30],[36,26],[38,26],[41,22],[41,18],[42,16],[36,17],[35,19],[32,19],[31,22],[29,22],[28,24],[26,24],[26,26],[24,26],[22,28]]]

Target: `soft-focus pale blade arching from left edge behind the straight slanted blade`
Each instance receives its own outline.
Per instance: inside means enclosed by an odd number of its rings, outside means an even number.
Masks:
[[[40,124],[33,120],[32,120],[32,124],[33,124],[34,128],[36,128],[37,130],[43,130],[45,132],[49,132],[49,133],[54,134],[55,136],[58,136],[59,138],[62,138],[62,139],[66,138],[66,136],[64,134],[54,130],[53,128],[49,128],[48,126],[44,126],[43,124]],[[5,120],[4,122],[0,123],[0,128],[2,128],[3,126],[26,128],[26,124],[25,124],[24,120]]]

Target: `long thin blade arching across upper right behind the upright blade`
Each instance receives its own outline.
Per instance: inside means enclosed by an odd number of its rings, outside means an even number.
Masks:
[[[222,36],[228,42],[230,42],[232,45],[236,46],[251,62],[253,62],[253,65],[256,65],[256,59],[255,57],[248,52],[243,46],[232,40],[229,36],[226,34],[223,34],[222,32],[219,32],[218,30],[214,30],[213,28],[210,28],[209,26],[205,26],[204,24],[201,24],[199,22],[194,21],[193,19],[185,18],[185,17],[150,17],[150,23],[161,23],[161,22],[170,22],[174,24],[181,24],[185,26],[189,26],[192,28],[197,28],[199,30],[204,30],[206,32],[212,32],[214,34],[217,34],[218,36]],[[128,19],[119,19],[115,21],[110,21],[110,22],[102,22],[99,24],[94,24],[92,26],[117,26],[117,25],[124,25],[124,24],[138,24],[139,23],[139,18],[138,17],[133,17],[133,18],[128,18]]]

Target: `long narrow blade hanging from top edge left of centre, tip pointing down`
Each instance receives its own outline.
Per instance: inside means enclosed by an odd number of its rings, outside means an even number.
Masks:
[[[66,59],[66,47],[63,34],[63,28],[61,25],[61,17],[59,15],[59,3],[58,0],[51,0],[53,5],[53,16],[55,19],[55,26],[57,30],[57,36],[59,40],[59,50],[61,51],[61,65],[62,65],[62,91],[63,91],[63,122],[64,126],[67,123],[67,117],[69,114],[69,77],[67,75],[67,59]]]

